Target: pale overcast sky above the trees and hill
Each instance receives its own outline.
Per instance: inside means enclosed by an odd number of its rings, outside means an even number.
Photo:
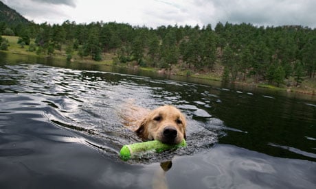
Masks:
[[[315,0],[0,0],[35,23],[96,21],[133,26],[252,23],[316,27]]]

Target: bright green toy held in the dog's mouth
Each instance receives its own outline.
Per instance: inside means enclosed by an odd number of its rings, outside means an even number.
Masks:
[[[187,143],[183,139],[179,144],[164,144],[159,140],[152,140],[147,142],[139,142],[135,144],[126,144],[122,147],[120,151],[120,156],[122,160],[127,161],[129,160],[135,153],[142,153],[146,151],[166,151],[168,149],[177,149],[179,147],[186,147]]]

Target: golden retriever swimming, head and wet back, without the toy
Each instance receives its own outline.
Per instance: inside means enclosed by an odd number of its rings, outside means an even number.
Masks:
[[[185,138],[186,121],[181,111],[172,105],[163,105],[149,111],[128,105],[121,112],[125,125],[144,140],[160,140],[166,144],[179,144]]]

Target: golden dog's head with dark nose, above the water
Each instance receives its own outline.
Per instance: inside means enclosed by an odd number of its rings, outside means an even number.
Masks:
[[[163,105],[150,112],[136,133],[147,140],[179,144],[185,138],[185,116],[172,105]]]

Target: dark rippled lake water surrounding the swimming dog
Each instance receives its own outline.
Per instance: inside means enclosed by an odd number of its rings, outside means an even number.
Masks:
[[[195,82],[0,53],[0,188],[316,188],[315,97]],[[128,99],[181,109],[188,147],[120,160]]]

